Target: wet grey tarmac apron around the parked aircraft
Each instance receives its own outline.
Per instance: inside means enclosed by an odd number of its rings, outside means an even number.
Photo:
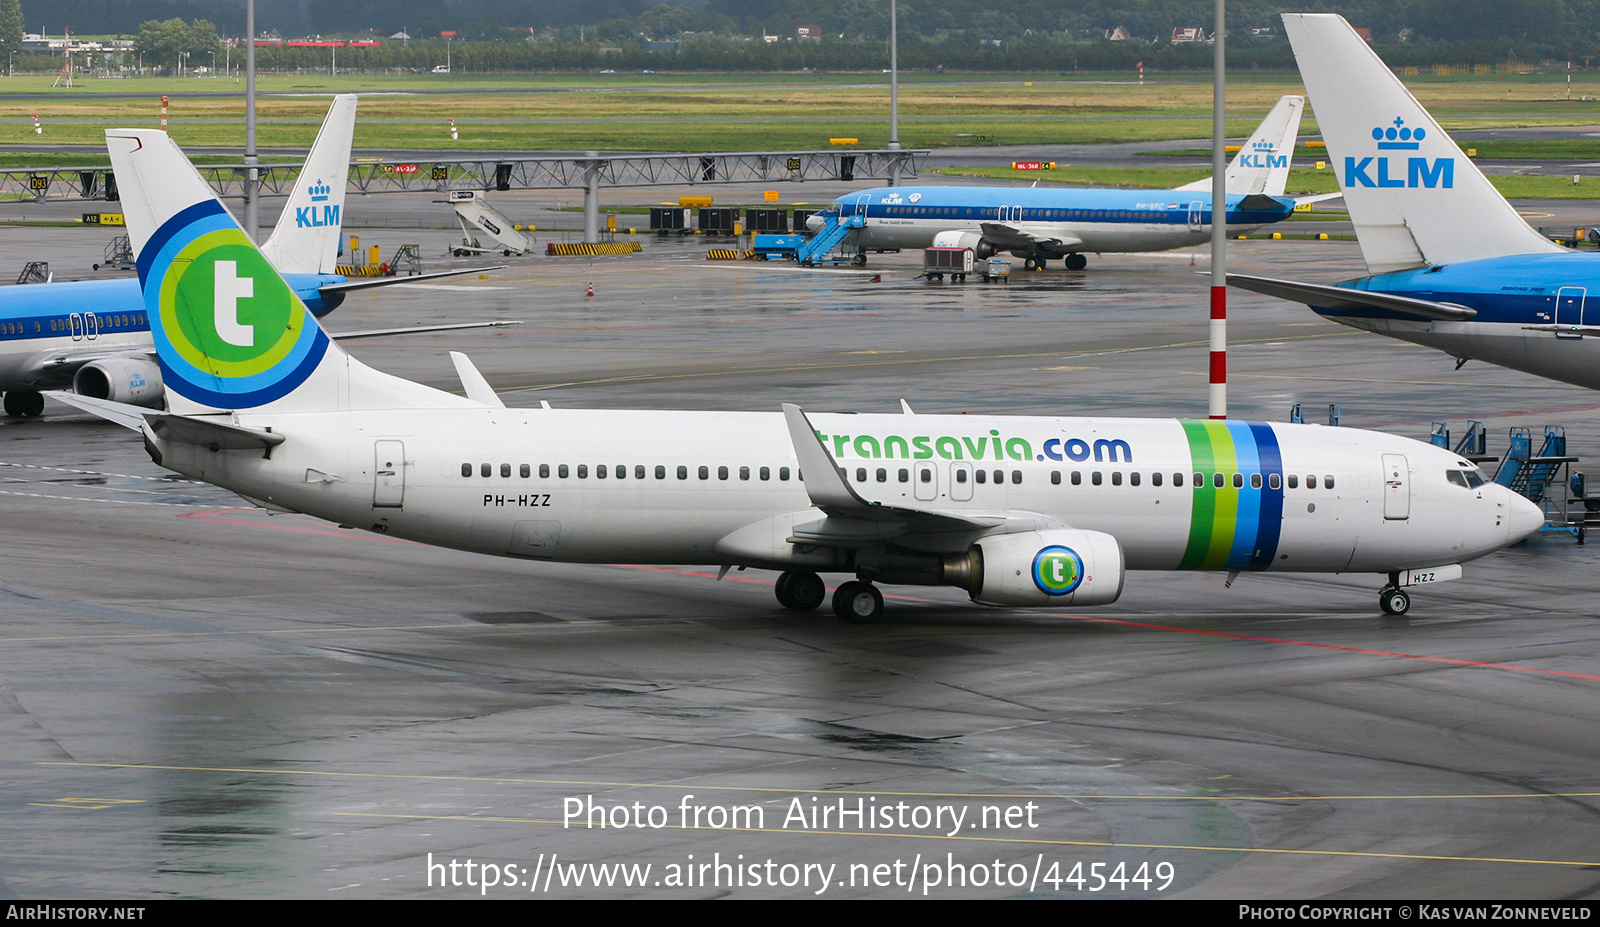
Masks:
[[[0,267],[90,275],[109,237],[3,229]],[[328,325],[520,320],[352,346],[445,389],[466,351],[510,405],[1206,410],[1203,251],[982,285],[918,280],[909,253],[643,247],[358,293]],[[1232,248],[1246,272],[1362,272],[1354,242]],[[1250,293],[1229,331],[1235,416],[1336,403],[1418,439],[1475,418],[1491,451],[1560,424],[1600,453],[1594,392]],[[54,403],[0,421],[0,512],[11,898],[1600,893],[1595,548],[1571,535],[1469,564],[1403,620],[1378,576],[1133,573],[1064,613],[890,588],[861,628],[779,608],[754,572],[267,516]]]

